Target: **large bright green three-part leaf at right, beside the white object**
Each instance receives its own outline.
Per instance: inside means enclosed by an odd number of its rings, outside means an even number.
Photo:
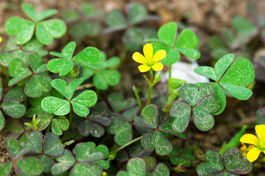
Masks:
[[[235,98],[246,100],[252,95],[252,91],[244,87],[254,80],[254,67],[247,59],[238,59],[233,63],[234,57],[233,54],[227,54],[216,62],[214,68],[199,66],[194,71],[216,81]]]

